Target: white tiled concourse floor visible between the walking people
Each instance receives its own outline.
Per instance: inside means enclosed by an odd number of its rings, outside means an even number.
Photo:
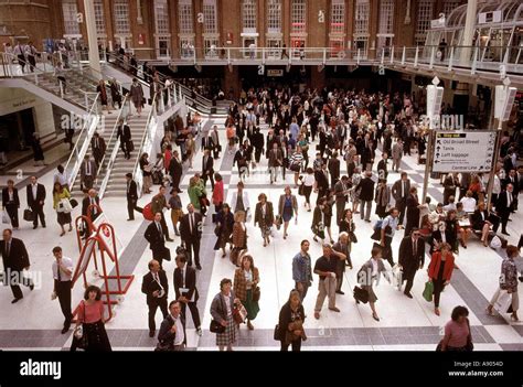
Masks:
[[[222,122],[215,122],[222,128]],[[221,132],[221,141],[226,152],[225,133]],[[311,147],[313,149],[313,147]],[[380,155],[380,152],[377,152]],[[405,157],[404,161],[407,163],[410,170],[416,170],[417,173],[423,175],[423,170],[415,162],[415,157]],[[215,163],[215,169],[223,172],[223,175],[232,175],[231,182],[227,184],[228,192],[227,197],[231,198],[232,189],[235,187],[237,182],[237,174],[231,172],[231,166],[221,165],[222,159]],[[254,211],[257,195],[260,192],[265,192],[270,201],[277,205],[278,197],[282,193],[281,186],[270,186],[269,180],[266,174],[266,160],[263,158],[262,163],[255,170],[250,178],[246,179],[246,190],[250,198],[250,207]],[[201,170],[201,155],[195,157],[193,162],[193,171]],[[423,165],[421,165],[423,166]],[[344,163],[342,162],[342,171],[344,170]],[[342,172],[343,173],[343,172]],[[41,182],[46,187],[51,186],[53,173],[47,173],[41,179]],[[188,174],[183,184],[188,184],[190,174]],[[227,176],[228,179],[228,176]],[[398,179],[397,173],[391,173],[388,182],[392,184]],[[287,174],[286,182],[293,185],[291,174]],[[262,187],[249,187],[249,184],[264,184]],[[429,186],[440,189],[438,181],[430,181]],[[154,191],[157,187],[154,187]],[[184,193],[181,195],[182,203],[185,205],[189,203],[186,189],[183,189]],[[209,196],[211,196],[210,184],[207,184]],[[156,193],[156,192],[154,192]],[[296,193],[296,190],[295,190]],[[151,195],[143,196],[139,205],[145,205],[150,201]],[[25,194],[22,193],[22,202],[25,201]],[[312,195],[312,202],[316,201],[316,195]],[[299,250],[299,244],[302,239],[307,238],[311,240],[310,254],[313,261],[320,257],[321,248],[319,244],[312,241],[312,235],[310,225],[312,221],[312,213],[308,213],[303,209],[303,197],[298,196],[300,213],[299,223],[291,223],[289,227],[289,237],[284,240],[282,232],[275,232],[275,237],[271,244],[264,248],[263,240],[259,235],[259,229],[253,226],[253,223],[247,225],[248,229],[248,247],[252,252],[256,266],[260,271],[260,312],[258,318],[254,321],[254,325],[257,330],[273,330],[275,323],[278,320],[278,313],[280,307],[287,301],[288,293],[293,287],[291,276],[291,260],[292,257]],[[25,298],[17,305],[11,305],[10,301],[12,298],[9,289],[2,289],[0,291],[0,304],[2,307],[2,313],[0,314],[0,330],[18,330],[18,329],[40,329],[40,330],[57,330],[62,323],[62,314],[57,302],[50,301],[50,294],[52,289],[51,276],[51,261],[52,254],[51,249],[55,245],[60,245],[64,248],[64,252],[71,256],[73,259],[78,257],[78,248],[73,233],[67,234],[65,237],[58,237],[58,226],[55,222],[55,215],[51,207],[51,201],[46,201],[45,211],[47,215],[47,228],[32,230],[31,225],[22,221],[22,229],[15,232],[15,237],[23,238],[25,241],[31,256],[31,271],[39,271],[42,273],[43,283],[40,290],[34,290],[32,294],[29,294],[26,289],[23,289]],[[124,246],[127,246],[132,238],[142,238],[141,235],[136,235],[136,232],[141,223],[141,217],[137,216],[136,222],[126,222],[127,211],[125,198],[105,198],[102,204],[107,218],[115,226],[119,239]],[[79,208],[76,208],[74,215],[77,216]],[[210,211],[212,213],[212,209]],[[137,214],[139,215],[139,214]],[[511,237],[509,241],[517,244],[519,235],[522,229],[523,219],[521,214],[512,216],[513,222],[509,224],[509,232]],[[372,216],[373,222],[376,219],[375,215]],[[377,312],[381,316],[380,322],[375,322],[371,316],[371,311],[367,305],[356,305],[351,289],[355,284],[355,275],[359,267],[370,257],[370,250],[372,247],[372,240],[369,235],[372,232],[372,224],[363,223],[356,217],[356,235],[359,236],[359,243],[353,245],[352,261],[354,269],[345,272],[345,279],[343,284],[343,291],[345,295],[337,297],[337,304],[341,309],[341,313],[335,313],[327,310],[327,304],[323,308],[320,320],[314,320],[313,304],[316,301],[317,290],[316,283],[318,277],[314,276],[314,286],[309,290],[309,293],[305,300],[305,308],[308,314],[306,326],[308,329],[334,329],[334,327],[408,327],[408,326],[441,326],[450,318],[450,312],[453,307],[458,304],[466,304],[456,289],[448,287],[441,295],[441,315],[438,318],[434,314],[433,305],[426,302],[423,297],[423,288],[426,280],[426,271],[420,270],[417,273],[415,286],[413,289],[414,299],[407,299],[403,292],[397,291],[386,281],[383,281],[376,288],[376,294],[378,301],[376,304]],[[335,221],[333,219],[333,225]],[[170,227],[171,237],[173,235],[172,225],[168,221]],[[205,233],[212,233],[212,226],[206,229]],[[332,228],[334,239],[338,236],[338,227]],[[397,261],[397,248],[399,246],[401,237],[403,232],[399,232],[393,243],[395,260]],[[174,237],[175,241],[168,244],[171,251],[180,244],[180,238]],[[125,297],[125,301],[115,308],[116,316],[108,323],[110,330],[122,330],[122,329],[140,329],[147,330],[147,305],[145,302],[145,295],[141,293],[141,277],[147,272],[147,262],[150,260],[151,255],[149,248],[146,248],[141,258],[134,271],[135,281],[130,287],[128,293]],[[212,264],[214,261],[214,265]],[[462,273],[478,288],[481,294],[490,299],[491,294],[495,291],[498,286],[498,275],[501,266],[501,259],[495,251],[490,248],[483,248],[477,240],[471,240],[468,249],[461,249],[460,255],[457,257],[457,262]],[[218,283],[222,278],[233,278],[235,267],[230,262],[228,258],[222,259],[221,251],[206,254],[202,256],[202,265],[213,265],[212,276],[210,278],[210,291],[206,294],[206,302],[200,303],[200,312],[202,315],[202,326],[206,327],[210,323],[210,304],[213,295],[218,291]],[[385,264],[388,267],[388,264]],[[426,258],[426,265],[428,266],[428,257]],[[174,262],[166,262],[164,269],[168,272],[168,278],[172,286],[172,272],[174,270]],[[89,269],[89,272],[92,270]],[[83,283],[77,283],[74,288],[73,303],[76,304],[82,297]],[[521,297],[523,297],[520,290]],[[20,315],[24,315],[23,325],[20,324]],[[157,324],[161,321],[160,313],[157,314]],[[474,313],[471,312],[470,321],[472,325],[481,325],[480,320]],[[500,350],[498,344],[502,343],[521,343],[522,337],[517,334],[509,324],[506,325],[485,325],[487,331],[494,338],[495,343],[478,344],[477,350]],[[242,332],[245,332],[245,327],[242,327]],[[243,335],[244,333],[241,333]],[[195,335],[193,330],[188,331],[190,340],[190,346],[196,346],[199,337]],[[277,350],[275,346],[242,346],[242,350],[257,350],[264,351]],[[119,350],[136,350],[135,347],[121,346]],[[305,351],[313,350],[346,350],[346,351],[363,351],[363,350],[375,350],[375,351],[434,351],[435,345],[433,344],[405,344],[405,345],[350,345],[350,346],[303,346]],[[215,347],[203,346],[200,351],[214,351]]]

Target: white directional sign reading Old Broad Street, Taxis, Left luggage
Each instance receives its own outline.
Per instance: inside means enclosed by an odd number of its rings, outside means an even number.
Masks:
[[[489,172],[495,131],[438,131],[433,172]]]

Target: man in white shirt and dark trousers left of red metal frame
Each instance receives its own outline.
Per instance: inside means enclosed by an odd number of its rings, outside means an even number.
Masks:
[[[53,256],[55,258],[52,265],[54,279],[53,298],[57,297],[60,308],[64,314],[65,320],[62,334],[65,334],[71,327],[71,320],[73,320],[73,314],[71,313],[73,260],[63,256],[62,247],[60,246],[53,248]]]

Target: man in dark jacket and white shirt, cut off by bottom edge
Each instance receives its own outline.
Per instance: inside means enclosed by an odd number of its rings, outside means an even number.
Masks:
[[[185,313],[181,311],[181,302],[171,301],[169,314],[160,325],[158,341],[167,351],[184,351],[186,346]]]

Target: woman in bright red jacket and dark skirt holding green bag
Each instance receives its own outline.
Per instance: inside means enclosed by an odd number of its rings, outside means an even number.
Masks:
[[[451,247],[447,243],[439,245],[439,251],[433,254],[428,266],[428,280],[434,284],[434,313],[439,315],[439,294],[450,283],[453,270],[453,256]]]

